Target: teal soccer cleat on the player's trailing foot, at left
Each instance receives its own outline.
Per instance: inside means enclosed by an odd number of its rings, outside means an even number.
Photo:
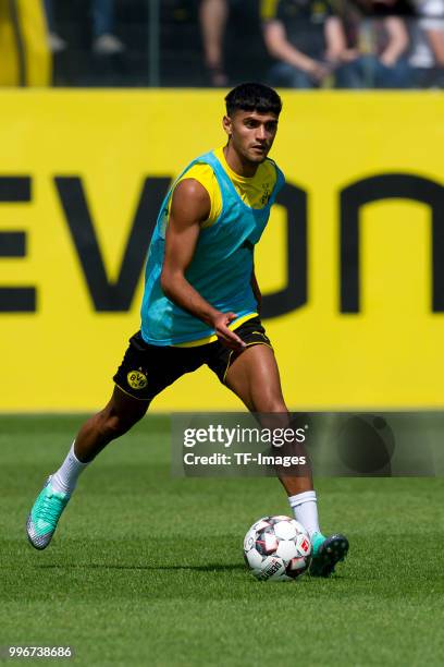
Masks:
[[[70,497],[70,494],[54,492],[51,477],[48,477],[26,521],[26,532],[33,547],[45,549],[51,542]]]

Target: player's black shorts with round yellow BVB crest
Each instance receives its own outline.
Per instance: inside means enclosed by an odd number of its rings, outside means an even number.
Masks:
[[[271,348],[259,317],[248,319],[235,331],[247,345],[263,344]],[[203,364],[225,384],[226,372],[239,354],[242,351],[229,350],[219,340],[196,348],[151,345],[137,331],[130,339],[130,347],[113,380],[119,389],[133,398],[151,401],[182,375],[197,371]]]

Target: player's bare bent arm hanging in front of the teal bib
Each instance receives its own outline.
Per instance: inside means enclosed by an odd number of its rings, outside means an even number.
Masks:
[[[196,250],[200,223],[207,220],[210,207],[210,197],[198,181],[185,179],[176,186],[166,227],[161,287],[176,305],[214,328],[221,342],[240,349],[245,343],[227,327],[236,314],[213,308],[185,278]]]

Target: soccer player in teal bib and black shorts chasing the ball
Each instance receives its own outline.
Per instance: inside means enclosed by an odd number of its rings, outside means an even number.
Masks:
[[[267,156],[282,101],[256,83],[225,98],[224,147],[193,160],[168,193],[148,252],[140,330],[114,375],[109,403],[78,432],[27,519],[34,547],[48,546],[78,475],[185,373],[207,364],[255,413],[288,415],[271,342],[260,322],[254,247],[284,177]],[[311,573],[330,575],[348,550],[322,535],[311,474],[281,476],[295,518],[308,531]]]

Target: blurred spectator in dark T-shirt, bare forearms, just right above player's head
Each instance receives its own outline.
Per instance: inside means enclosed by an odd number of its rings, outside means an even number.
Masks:
[[[329,0],[279,0],[264,20],[266,45],[279,61],[272,85],[317,88],[332,72],[335,85],[348,85],[345,33]]]

